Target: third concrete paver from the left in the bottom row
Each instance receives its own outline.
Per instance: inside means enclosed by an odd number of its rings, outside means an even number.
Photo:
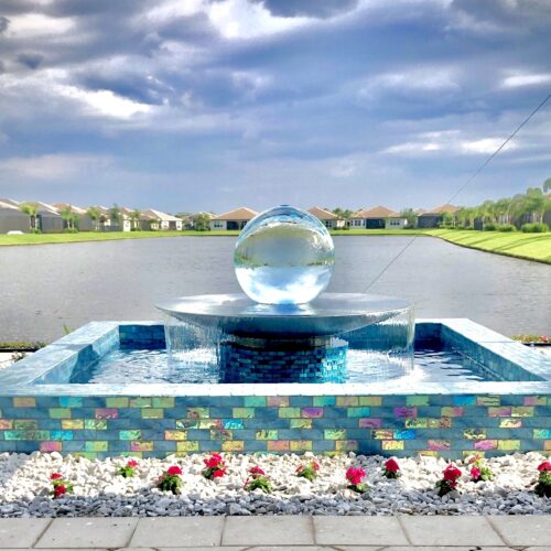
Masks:
[[[134,548],[219,545],[224,517],[141,518],[130,540]]]

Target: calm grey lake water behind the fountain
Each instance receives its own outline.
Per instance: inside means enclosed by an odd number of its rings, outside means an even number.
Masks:
[[[160,320],[155,302],[239,292],[235,237],[0,247],[0,341],[52,341],[93,320]],[[331,292],[364,292],[409,236],[335,237]],[[551,267],[418,237],[369,292],[417,317],[469,317],[506,335],[551,331]]]

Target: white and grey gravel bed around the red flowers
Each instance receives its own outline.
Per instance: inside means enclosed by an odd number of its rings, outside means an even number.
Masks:
[[[0,517],[109,517],[109,516],[212,516],[212,515],[538,515],[551,514],[551,499],[532,491],[538,453],[514,454],[488,460],[496,477],[474,484],[464,471],[458,491],[443,498],[434,490],[446,462],[421,457],[398,460],[402,476],[389,480],[381,475],[380,456],[348,454],[337,457],[299,455],[227,455],[226,476],[214,482],[201,475],[207,455],[138,460],[133,478],[116,475],[123,457],[89,461],[58,453],[0,454]],[[321,465],[314,483],[295,476],[305,461]],[[171,465],[183,471],[182,494],[154,488],[155,479]],[[244,489],[247,469],[262,467],[272,480],[273,493]],[[350,465],[366,471],[369,491],[346,488]],[[53,499],[50,475],[54,472],[74,484],[74,495]]]

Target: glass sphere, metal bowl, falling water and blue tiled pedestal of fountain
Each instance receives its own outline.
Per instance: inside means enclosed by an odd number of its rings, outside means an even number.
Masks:
[[[244,294],[158,304],[174,368],[215,365],[222,382],[342,382],[354,356],[374,379],[404,375],[413,365],[413,305],[324,293],[334,262],[332,237],[310,213],[282,205],[259,214],[235,247]]]

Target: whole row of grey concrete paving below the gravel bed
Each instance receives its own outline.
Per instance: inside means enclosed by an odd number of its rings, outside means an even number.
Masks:
[[[551,551],[551,516],[2,518],[0,549]]]

